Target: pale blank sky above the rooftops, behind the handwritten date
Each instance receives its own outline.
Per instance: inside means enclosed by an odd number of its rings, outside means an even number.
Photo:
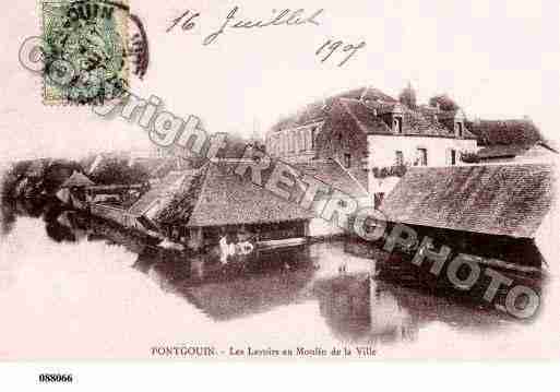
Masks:
[[[531,117],[550,139],[560,126],[560,3],[548,1],[140,1],[131,10],[145,25],[151,62],[132,90],[156,95],[165,109],[205,129],[250,135],[279,116],[336,92],[369,85],[396,96],[408,82],[419,103],[451,95],[470,118]],[[273,9],[319,9],[319,25],[217,31],[239,7],[236,21],[267,20]],[[192,29],[172,20],[200,13]],[[4,10],[0,70],[0,158],[74,157],[99,150],[145,149],[145,131],[87,107],[45,106],[41,78],[25,70],[23,40],[40,34],[35,0]],[[342,54],[315,55],[327,39],[366,41],[344,67]]]

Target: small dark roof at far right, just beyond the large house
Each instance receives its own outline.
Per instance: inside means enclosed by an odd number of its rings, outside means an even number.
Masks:
[[[467,123],[468,130],[482,146],[520,144],[533,145],[545,139],[531,120],[477,120]]]

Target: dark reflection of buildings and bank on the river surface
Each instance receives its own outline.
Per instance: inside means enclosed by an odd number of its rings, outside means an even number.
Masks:
[[[10,240],[10,235],[26,236],[16,233],[14,225],[21,215],[36,217],[36,224],[45,225],[55,242],[102,241],[133,252],[131,273],[144,274],[208,321],[235,321],[255,314],[271,314],[273,320],[275,311],[294,309],[293,322],[298,323],[301,314],[297,306],[307,304],[317,312],[306,314],[305,320],[312,323],[307,328],[323,324],[337,341],[376,344],[415,342],[419,331],[433,322],[480,332],[512,322],[477,304],[379,281],[372,277],[372,261],[345,252],[341,242],[314,243],[263,256],[258,263],[242,268],[224,269],[47,200],[2,205],[3,240]],[[34,239],[27,240],[33,243]],[[41,250],[36,252],[40,260]],[[258,333],[262,325],[255,321],[251,328]]]

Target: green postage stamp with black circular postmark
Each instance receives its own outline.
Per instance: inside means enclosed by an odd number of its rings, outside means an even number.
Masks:
[[[129,82],[127,1],[41,2],[45,104],[103,105]]]

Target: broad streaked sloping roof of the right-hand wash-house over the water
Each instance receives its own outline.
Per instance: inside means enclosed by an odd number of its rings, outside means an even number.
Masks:
[[[547,165],[412,168],[385,198],[391,222],[534,238],[552,202]]]

